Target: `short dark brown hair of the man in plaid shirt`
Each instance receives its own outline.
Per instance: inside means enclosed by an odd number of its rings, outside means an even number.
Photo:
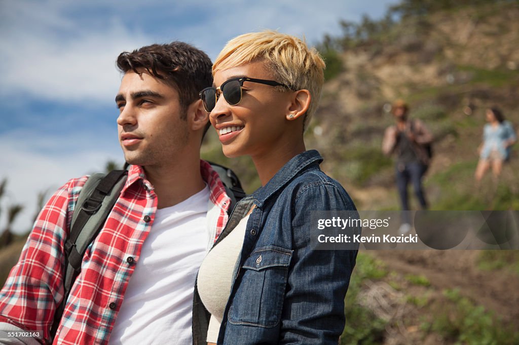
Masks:
[[[206,53],[185,42],[154,44],[134,51],[122,52],[117,57],[122,73],[129,70],[140,74],[145,69],[150,75],[173,87],[184,110],[198,99],[198,93],[213,84],[211,59]],[[185,111],[183,116],[185,117]]]

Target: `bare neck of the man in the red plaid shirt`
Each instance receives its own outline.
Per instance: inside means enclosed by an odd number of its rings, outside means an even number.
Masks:
[[[144,171],[157,194],[159,209],[179,204],[205,186],[200,173],[200,157],[171,165],[146,166]]]

